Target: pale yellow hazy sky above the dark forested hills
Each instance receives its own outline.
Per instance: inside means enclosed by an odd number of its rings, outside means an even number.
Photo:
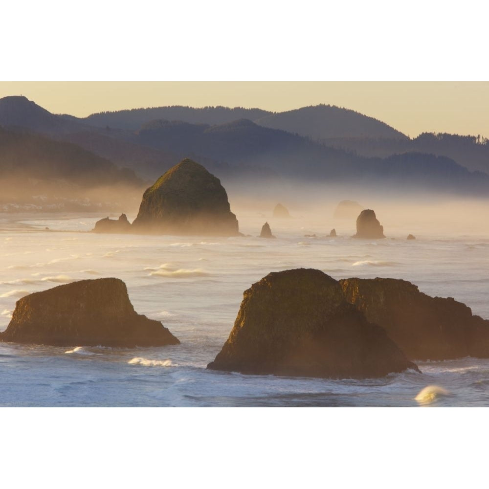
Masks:
[[[287,111],[331,104],[375,117],[410,136],[489,137],[489,82],[0,82],[48,111],[93,112],[188,105]]]

